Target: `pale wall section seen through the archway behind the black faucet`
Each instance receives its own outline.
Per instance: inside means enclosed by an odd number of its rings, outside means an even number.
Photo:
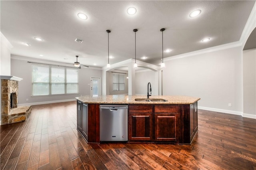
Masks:
[[[151,84],[152,95],[158,95],[158,71],[146,69],[135,72],[136,95],[147,95],[148,82]]]

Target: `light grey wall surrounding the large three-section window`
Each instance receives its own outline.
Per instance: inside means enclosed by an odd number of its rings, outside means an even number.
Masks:
[[[78,69],[78,71],[79,94],[32,97],[31,63],[25,60],[11,59],[11,74],[23,79],[19,82],[19,105],[42,104],[50,101],[69,101],[81,95],[90,95],[90,77],[101,77],[101,70],[82,68]]]

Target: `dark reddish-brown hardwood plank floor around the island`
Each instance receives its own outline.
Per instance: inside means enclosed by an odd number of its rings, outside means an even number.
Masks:
[[[198,110],[191,145],[87,144],[76,101],[32,106],[27,121],[0,126],[1,170],[256,170],[256,119]]]

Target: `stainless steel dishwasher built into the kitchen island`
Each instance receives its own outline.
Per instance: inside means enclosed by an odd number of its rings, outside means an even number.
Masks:
[[[100,105],[100,141],[128,141],[127,105]]]

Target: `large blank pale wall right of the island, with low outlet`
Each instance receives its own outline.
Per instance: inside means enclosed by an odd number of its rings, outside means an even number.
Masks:
[[[202,109],[242,115],[241,51],[238,46],[165,61],[163,95],[200,97]]]

